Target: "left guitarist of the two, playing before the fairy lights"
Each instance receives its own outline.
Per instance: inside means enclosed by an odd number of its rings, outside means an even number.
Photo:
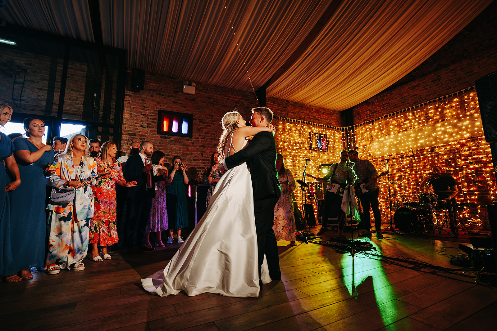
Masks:
[[[355,180],[354,170],[347,165],[347,159],[347,151],[342,150],[340,152],[340,162],[332,164],[326,176],[322,178],[327,182],[339,184],[340,188],[336,193],[333,193],[331,192],[331,186],[327,187],[323,206],[323,226],[317,233],[318,236],[328,231],[328,217],[330,214],[334,214],[338,218],[338,237],[345,238],[343,235],[345,212],[341,209],[343,189],[347,184],[352,184]]]

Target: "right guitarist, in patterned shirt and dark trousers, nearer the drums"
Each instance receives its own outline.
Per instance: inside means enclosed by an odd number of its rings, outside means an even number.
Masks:
[[[352,149],[348,152],[348,157],[351,162],[354,163],[353,169],[359,178],[357,181],[359,186],[362,183],[367,183],[371,179],[378,176],[378,171],[374,167],[373,163],[369,160],[361,160],[359,159],[359,153],[357,150]],[[362,215],[361,220],[363,221],[364,231],[362,231],[359,236],[361,237],[371,237],[371,215],[369,214],[369,205],[371,205],[371,209],[373,209],[374,215],[374,225],[376,230],[376,238],[382,239],[383,235],[381,234],[381,214],[378,203],[378,195],[380,194],[380,188],[378,186],[378,182],[374,181],[369,184],[366,189],[367,193],[363,194],[361,189],[356,190],[356,196],[361,201],[362,205]]]

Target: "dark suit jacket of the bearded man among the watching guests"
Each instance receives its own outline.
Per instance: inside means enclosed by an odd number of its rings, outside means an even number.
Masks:
[[[130,156],[126,161],[124,170],[124,179],[126,182],[136,181],[136,186],[127,189],[128,198],[155,198],[155,187],[149,190],[147,187],[147,175],[143,172],[145,164],[142,161],[140,154]],[[163,181],[162,176],[152,177],[152,183]]]

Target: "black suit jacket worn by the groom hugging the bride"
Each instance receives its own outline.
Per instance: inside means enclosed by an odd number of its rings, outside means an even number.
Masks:
[[[254,200],[281,197],[276,171],[276,142],[271,132],[257,133],[247,148],[225,159],[227,170],[244,162],[250,170]]]

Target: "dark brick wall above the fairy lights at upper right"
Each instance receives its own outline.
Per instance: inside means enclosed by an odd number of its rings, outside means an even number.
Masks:
[[[385,91],[353,107],[354,124],[473,86],[497,71],[497,1]]]

